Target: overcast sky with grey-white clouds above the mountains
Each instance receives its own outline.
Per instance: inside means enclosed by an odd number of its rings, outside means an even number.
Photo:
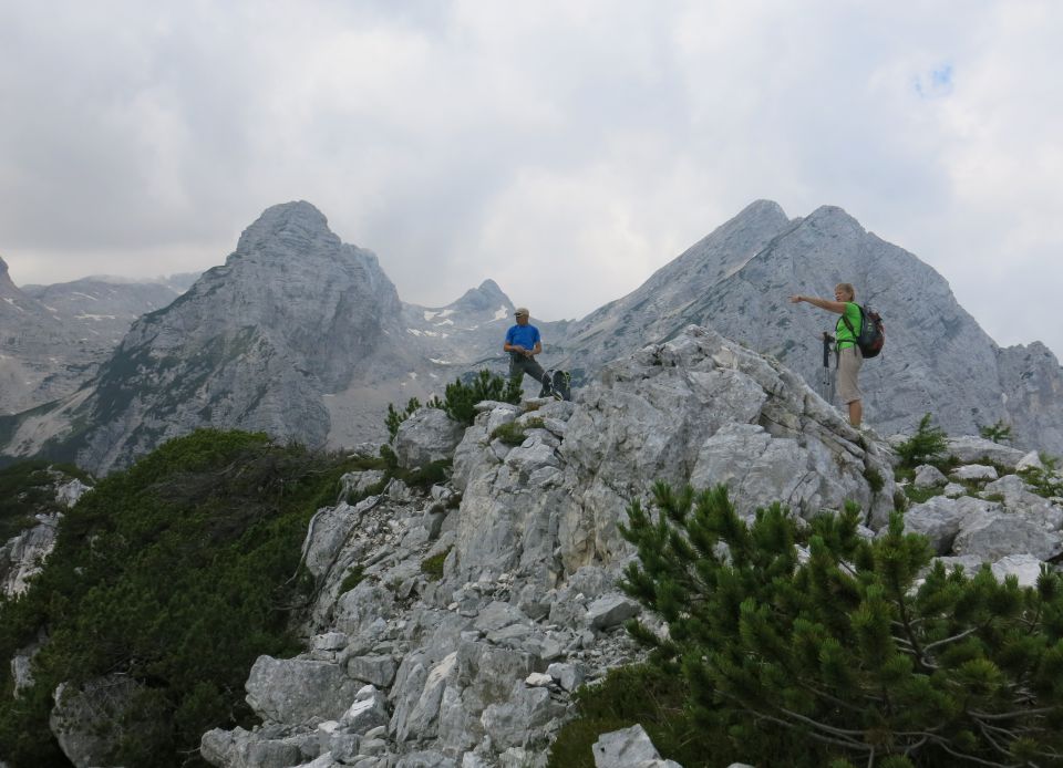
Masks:
[[[202,270],[306,199],[406,301],[556,320],[829,204],[1063,356],[1061,40],[1056,0],[0,0],[0,256]]]

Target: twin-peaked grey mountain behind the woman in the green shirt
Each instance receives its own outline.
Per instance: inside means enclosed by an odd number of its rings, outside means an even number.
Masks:
[[[611,357],[695,323],[815,382],[822,332],[837,316],[788,297],[830,297],[837,282],[854,283],[886,323],[886,349],[860,374],[866,418],[883,434],[911,432],[930,411],[951,434],[1003,421],[1016,445],[1063,450],[1063,375],[1052,353],[1036,342],[1001,350],[937,272],[829,206],[787,219],[774,203],[754,203],[631,294],[571,323],[561,362],[589,378]]]

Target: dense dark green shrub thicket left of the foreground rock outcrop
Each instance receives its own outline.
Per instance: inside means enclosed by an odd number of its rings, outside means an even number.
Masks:
[[[262,434],[202,429],[115,473],[63,518],[20,600],[0,602],[0,658],[44,631],[34,686],[13,699],[0,665],[0,754],[66,766],[49,733],[51,692],[122,673],[143,687],[107,765],[206,765],[210,728],[250,727],[244,682],[260,654],[299,651],[311,584],[307,525],[334,504],[349,461]]]

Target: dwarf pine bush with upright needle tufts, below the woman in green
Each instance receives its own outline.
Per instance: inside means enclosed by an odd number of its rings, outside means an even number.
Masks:
[[[629,507],[639,561],[622,585],[668,633],[629,631],[681,665],[693,717],[745,761],[1063,764],[1060,575],[1020,588],[988,567],[926,570],[899,513],[868,541],[852,504],[805,531],[777,504],[746,526],[723,486],[658,484],[653,506]]]

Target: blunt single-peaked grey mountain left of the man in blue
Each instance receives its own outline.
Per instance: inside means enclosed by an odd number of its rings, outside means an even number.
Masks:
[[[324,396],[392,359],[401,304],[376,257],[344,246],[306,203],[275,206],[165,310],[136,321],[90,388],[32,424],[8,453],[74,454],[105,473],[198,426],[327,443]],[[71,443],[73,422],[92,425]]]

